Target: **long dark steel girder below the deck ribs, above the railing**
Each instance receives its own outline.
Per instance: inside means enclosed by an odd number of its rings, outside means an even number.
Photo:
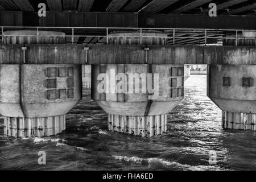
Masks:
[[[0,11],[0,26],[256,29],[255,16]]]

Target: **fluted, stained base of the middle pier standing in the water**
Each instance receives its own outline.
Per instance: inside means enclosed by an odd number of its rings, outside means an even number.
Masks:
[[[110,131],[142,137],[156,137],[167,131],[167,114],[154,116],[108,115]]]

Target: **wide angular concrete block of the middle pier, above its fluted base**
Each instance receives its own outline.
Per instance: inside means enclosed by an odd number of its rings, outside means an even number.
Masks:
[[[183,100],[182,96],[171,97],[172,89],[184,89],[184,73],[180,76],[172,76],[172,68],[183,68],[181,64],[177,65],[120,65],[120,64],[108,64],[108,65],[93,65],[92,66],[92,98],[103,110],[108,114],[125,115],[125,116],[144,116],[144,115],[162,115],[169,113],[174,107]],[[102,69],[103,68],[103,69]],[[123,86],[127,85],[127,93],[104,93],[98,92],[98,85],[101,81],[97,79],[98,75],[105,71],[106,75],[110,78],[110,69],[115,70],[115,74],[124,73],[127,76],[127,82]],[[123,72],[121,70],[123,69]],[[129,73],[152,73],[159,74],[159,86],[156,90],[159,93],[154,93],[156,96],[154,100],[148,98],[148,93],[142,93],[142,84],[140,84],[140,93],[135,93],[135,87],[130,88],[129,82],[133,83],[133,80],[129,80]],[[176,84],[172,86],[171,80],[175,78]],[[153,80],[154,81],[154,80]],[[148,82],[148,80],[145,80]],[[108,88],[110,89],[111,82],[109,82]],[[106,88],[106,86],[105,86]],[[129,91],[132,91],[129,93]],[[147,90],[148,91],[148,90]],[[103,95],[103,97],[102,97]],[[120,100],[122,98],[122,100]]]

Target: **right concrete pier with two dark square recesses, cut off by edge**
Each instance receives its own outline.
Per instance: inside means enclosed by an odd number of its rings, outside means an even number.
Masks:
[[[256,32],[238,37],[247,38],[238,40],[238,46],[256,45]],[[224,40],[224,46],[235,45],[234,39]],[[222,110],[224,129],[256,130],[256,65],[210,65],[208,97]]]

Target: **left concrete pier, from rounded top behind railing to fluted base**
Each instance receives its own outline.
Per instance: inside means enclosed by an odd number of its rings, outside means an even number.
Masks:
[[[8,44],[63,44],[61,32],[4,32]],[[7,36],[10,35],[10,36]],[[13,35],[13,36],[12,36]],[[53,37],[50,35],[59,35]],[[65,130],[65,114],[81,100],[80,65],[0,65],[0,114],[8,137],[44,137]]]

